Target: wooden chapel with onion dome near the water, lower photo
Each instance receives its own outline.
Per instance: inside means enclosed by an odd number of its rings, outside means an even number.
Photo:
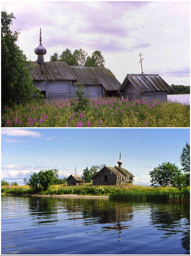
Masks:
[[[121,167],[121,155],[117,163],[118,166],[104,166],[97,174],[95,174],[93,177],[93,185],[116,185],[118,183],[132,184],[135,176]]]

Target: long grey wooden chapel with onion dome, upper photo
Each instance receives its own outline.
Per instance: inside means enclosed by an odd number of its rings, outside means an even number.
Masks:
[[[74,98],[76,86],[82,84],[83,91],[89,98],[103,96],[117,96],[121,83],[113,73],[106,68],[69,66],[64,61],[44,62],[46,49],[42,45],[41,31],[40,44],[35,48],[37,61],[32,64],[31,77],[34,86],[39,88],[47,100]]]

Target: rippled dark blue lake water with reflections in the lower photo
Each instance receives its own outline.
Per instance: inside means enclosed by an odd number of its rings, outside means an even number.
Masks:
[[[190,204],[1,196],[1,254],[184,255]]]

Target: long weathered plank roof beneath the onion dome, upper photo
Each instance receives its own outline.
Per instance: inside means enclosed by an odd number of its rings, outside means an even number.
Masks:
[[[108,90],[119,90],[121,83],[107,68],[69,66],[65,61],[48,61],[38,64],[30,61],[33,80],[73,80],[82,85],[103,85]]]

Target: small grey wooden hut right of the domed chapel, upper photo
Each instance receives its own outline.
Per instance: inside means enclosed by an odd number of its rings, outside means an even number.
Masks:
[[[164,102],[167,101],[167,91],[173,89],[159,75],[128,74],[118,93],[129,100],[157,99]]]

